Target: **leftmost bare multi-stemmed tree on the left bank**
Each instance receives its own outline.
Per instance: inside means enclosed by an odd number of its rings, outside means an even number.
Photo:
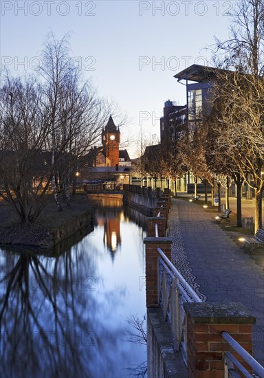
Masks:
[[[45,206],[52,169],[42,148],[50,132],[34,78],[5,76],[0,89],[0,196],[22,223],[33,222]]]

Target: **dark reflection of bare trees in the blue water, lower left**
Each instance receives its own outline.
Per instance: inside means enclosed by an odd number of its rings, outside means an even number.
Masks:
[[[104,352],[118,335],[98,324],[94,263],[85,251],[2,253],[0,262],[1,376],[96,377],[102,354],[100,375],[109,376],[113,360]]]

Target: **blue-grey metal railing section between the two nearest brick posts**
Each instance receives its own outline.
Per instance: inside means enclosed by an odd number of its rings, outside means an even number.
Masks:
[[[157,248],[158,298],[164,320],[170,324],[175,351],[181,351],[187,364],[186,314],[184,302],[202,302],[197,293],[188,285],[162,249]]]

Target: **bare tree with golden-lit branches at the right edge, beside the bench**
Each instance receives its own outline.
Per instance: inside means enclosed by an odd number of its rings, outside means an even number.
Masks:
[[[219,105],[217,144],[255,192],[255,230],[262,226],[264,179],[264,1],[242,0],[232,19],[232,38],[217,40],[214,85]]]

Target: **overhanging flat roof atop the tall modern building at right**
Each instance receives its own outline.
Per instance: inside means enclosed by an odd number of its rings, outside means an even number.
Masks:
[[[192,80],[192,81],[208,81],[212,78],[216,78],[219,72],[226,71],[216,67],[208,67],[203,65],[191,65],[179,74],[174,75],[175,78],[180,80]]]

